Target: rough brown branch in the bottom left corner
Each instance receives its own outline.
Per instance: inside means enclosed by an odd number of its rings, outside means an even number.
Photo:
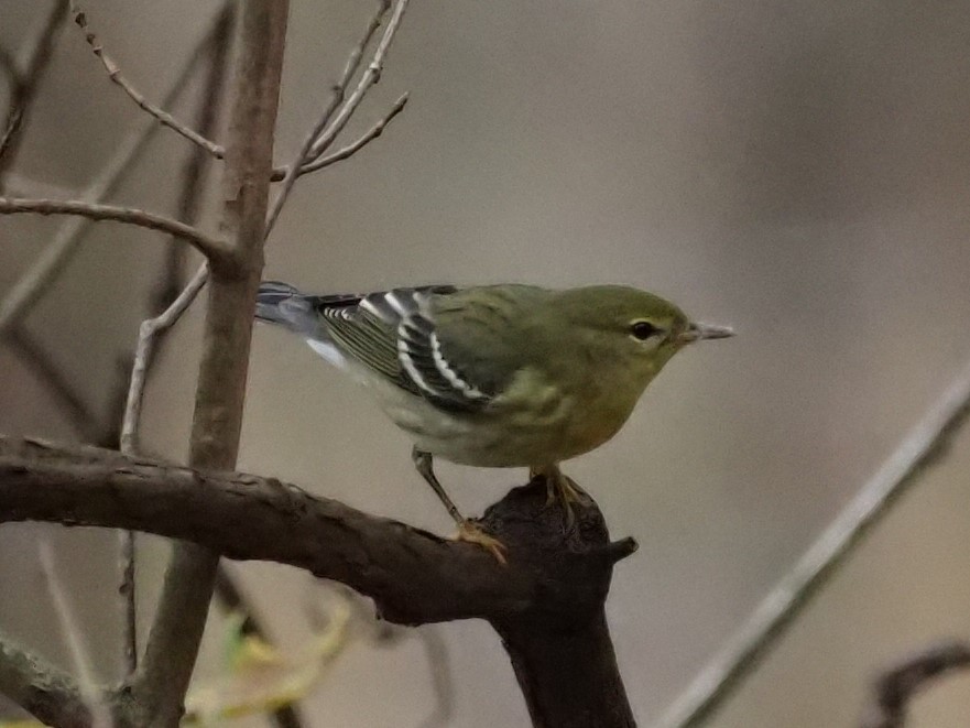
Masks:
[[[91,715],[74,680],[0,633],[0,693],[52,726],[87,728]]]

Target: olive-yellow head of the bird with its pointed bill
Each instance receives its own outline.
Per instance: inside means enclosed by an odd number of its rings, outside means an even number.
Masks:
[[[734,335],[726,326],[691,322],[669,301],[623,285],[563,291],[557,305],[584,335],[590,356],[624,362],[644,385],[686,345]]]

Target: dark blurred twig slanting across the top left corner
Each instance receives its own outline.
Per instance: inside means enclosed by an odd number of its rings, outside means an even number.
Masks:
[[[17,157],[19,140],[22,138],[18,132],[23,127],[23,121],[41,86],[44,72],[50,67],[51,58],[54,56],[54,46],[64,28],[66,10],[66,0],[54,0],[51,12],[31,43],[28,52],[29,61],[24,70],[22,73],[17,70],[17,65],[11,69],[10,109],[3,124],[3,135],[0,138],[0,193],[3,191],[3,174]],[[13,63],[15,64],[15,62]]]

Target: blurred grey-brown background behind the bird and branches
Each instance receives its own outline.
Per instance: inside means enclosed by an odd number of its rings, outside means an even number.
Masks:
[[[217,8],[86,6],[153,100]],[[3,0],[0,45],[17,54],[45,12],[35,0]],[[293,0],[281,162],[326,105],[371,12],[372,3]],[[968,43],[970,4],[944,0],[414,0],[347,139],[405,90],[406,110],[352,160],[304,177],[276,227],[266,278],[309,291],[619,282],[737,328],[733,340],[680,355],[618,437],[567,466],[612,534],[641,544],[618,567],[608,608],[643,726],[970,360]],[[188,96],[176,110],[193,119]],[[76,197],[141,122],[66,28],[8,188]],[[189,151],[156,134],[111,202],[171,213]],[[218,196],[217,176],[208,188]],[[62,221],[0,220],[0,296]],[[163,258],[152,233],[96,226],[20,324],[99,416],[110,414],[119,358]],[[186,455],[200,313],[178,325],[149,388],[143,444],[170,458]],[[0,348],[0,431],[84,437],[14,347]],[[446,533],[449,519],[408,452],[301,341],[257,327],[241,468]],[[968,471],[970,432],[710,725],[853,726],[880,669],[967,637]],[[440,475],[469,513],[525,478],[448,466]],[[113,534],[0,529],[0,628],[68,664],[37,566],[42,537],[59,546],[92,655],[113,676]],[[140,544],[146,627],[166,545]],[[283,648],[304,645],[308,577],[231,567]],[[432,629],[454,682],[444,725],[527,725],[491,629]],[[221,633],[214,615],[200,682],[222,670]],[[421,640],[359,641],[304,703],[308,725],[422,725],[436,700],[427,663]],[[963,676],[920,697],[912,726],[958,728],[968,715]]]

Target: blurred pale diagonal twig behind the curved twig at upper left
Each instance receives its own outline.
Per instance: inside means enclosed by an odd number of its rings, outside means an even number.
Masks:
[[[231,4],[232,0],[226,0]],[[163,104],[171,106],[184,91],[188,79],[195,72],[196,66],[208,52],[217,22],[212,30],[205,34],[193,50],[185,65],[175,76],[168,90],[163,95]],[[102,167],[97,178],[80,196],[86,202],[100,202],[108,195],[113,194],[120,186],[126,173],[132,163],[148,148],[152,135],[159,129],[149,119],[141,120],[139,128],[132,131],[119,145],[112,157]],[[2,336],[14,322],[26,316],[33,305],[40,300],[50,285],[57,279],[72,254],[77,250],[80,238],[87,230],[91,220],[84,217],[70,217],[66,219],[57,233],[44,248],[37,260],[28,271],[18,279],[10,292],[0,302],[0,336]]]

